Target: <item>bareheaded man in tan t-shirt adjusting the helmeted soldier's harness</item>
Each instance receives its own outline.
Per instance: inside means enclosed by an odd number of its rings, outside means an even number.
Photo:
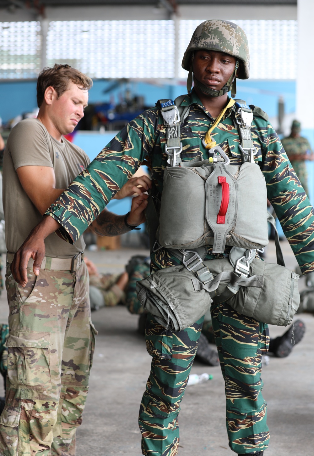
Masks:
[[[39,275],[33,272],[33,260],[28,262],[25,286],[12,278],[10,263],[46,208],[89,163],[85,152],[63,135],[83,117],[91,84],[68,65],[46,68],[37,82],[38,118],[17,124],[5,149],[9,337],[0,417],[0,454],[5,456],[75,455],[95,342],[84,241],[78,238],[71,245],[52,233]],[[147,198],[142,191],[148,187],[139,178],[122,188],[120,197],[140,193],[131,212],[124,217],[103,211],[92,229],[112,236],[142,223]]]

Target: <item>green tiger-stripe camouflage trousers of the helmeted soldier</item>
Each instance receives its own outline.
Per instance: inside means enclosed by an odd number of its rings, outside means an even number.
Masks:
[[[238,314],[226,303],[213,306],[211,313],[225,380],[229,446],[238,454],[265,450],[269,431],[261,362],[268,350],[268,327]],[[139,415],[144,455],[177,455],[177,417],[203,318],[184,331],[171,332],[165,331],[151,314],[147,316],[146,343],[152,369]]]

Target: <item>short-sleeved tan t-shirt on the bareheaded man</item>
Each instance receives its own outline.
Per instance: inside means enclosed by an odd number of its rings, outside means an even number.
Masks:
[[[89,164],[89,158],[70,141],[54,139],[37,119],[25,119],[10,132],[3,161],[3,205],[5,243],[15,253],[41,221],[42,215],[26,195],[17,175],[20,166],[50,166],[55,171],[56,188],[66,188]],[[83,237],[71,245],[56,233],[45,240],[46,255],[71,258],[85,248]]]

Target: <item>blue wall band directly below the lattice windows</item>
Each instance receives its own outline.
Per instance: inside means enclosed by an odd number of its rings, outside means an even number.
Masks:
[[[90,90],[91,103],[101,103],[114,98],[116,103],[130,88],[134,95],[142,95],[147,106],[154,106],[159,98],[176,98],[186,93],[185,83],[163,85],[144,82],[121,83],[110,94],[103,91],[111,86],[113,81],[96,80]],[[237,80],[237,98],[244,99],[247,104],[260,106],[270,117],[277,115],[277,103],[280,95],[284,97],[287,113],[295,111],[295,81],[263,81]],[[0,83],[0,117],[4,122],[18,114],[30,112],[36,108],[36,81],[16,81]]]

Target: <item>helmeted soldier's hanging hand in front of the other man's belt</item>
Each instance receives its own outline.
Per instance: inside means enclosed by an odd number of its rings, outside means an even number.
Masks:
[[[27,263],[30,258],[34,260],[33,271],[39,275],[41,263],[45,256],[45,239],[49,234],[60,228],[61,225],[54,218],[46,215],[40,223],[33,228],[20,249],[14,255],[10,269],[14,280],[25,287],[27,284]]]

